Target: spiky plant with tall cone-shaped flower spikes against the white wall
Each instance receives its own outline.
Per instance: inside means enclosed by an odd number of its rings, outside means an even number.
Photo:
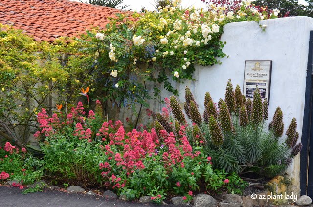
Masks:
[[[246,100],[240,87],[237,85],[233,90],[229,80],[225,99],[220,99],[218,104],[213,102],[207,92],[204,100],[204,121],[188,87],[185,99],[184,109],[193,122],[192,127],[187,127],[182,109],[172,96],[170,108],[173,117],[166,120],[158,114],[154,123],[156,131],[162,129],[180,136],[176,128],[184,125],[191,145],[203,146],[217,169],[241,175],[255,172],[275,176],[282,173],[302,149],[302,143],[297,144],[299,133],[296,132],[295,118],[288,127],[286,138],[282,138],[284,124],[280,107],[276,109],[273,121],[267,129],[268,100],[262,101],[258,88],[254,91],[253,101]]]

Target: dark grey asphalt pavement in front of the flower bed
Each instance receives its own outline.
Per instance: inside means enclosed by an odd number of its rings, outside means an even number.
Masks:
[[[140,204],[138,201],[109,199],[100,195],[45,190],[22,194],[22,189],[0,186],[0,207],[186,207],[185,205]]]

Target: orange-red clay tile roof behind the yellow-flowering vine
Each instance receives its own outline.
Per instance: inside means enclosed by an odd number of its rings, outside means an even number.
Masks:
[[[53,42],[95,26],[105,28],[108,18],[125,12],[131,13],[69,0],[0,0],[0,23],[22,29],[36,41]]]

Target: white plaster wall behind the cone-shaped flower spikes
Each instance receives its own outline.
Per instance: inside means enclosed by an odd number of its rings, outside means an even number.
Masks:
[[[298,122],[297,130],[301,134],[309,35],[313,30],[313,18],[279,18],[260,21],[260,24],[267,25],[266,32],[262,32],[256,22],[226,24],[221,40],[227,42],[223,51],[229,57],[221,59],[223,62],[221,65],[212,67],[197,65],[193,76],[195,81],[175,83],[180,94],[179,101],[184,102],[184,88],[188,85],[203,112],[206,91],[209,91],[212,99],[218,102],[219,98],[224,98],[226,82],[229,78],[234,86],[239,84],[243,88],[245,60],[272,60],[269,119],[272,119],[275,109],[280,106],[284,114],[285,132],[291,119],[295,117]],[[162,91],[161,99],[164,100],[170,95]],[[150,105],[156,112],[161,111],[163,107],[157,102],[150,102]],[[145,119],[147,118],[141,117],[141,121]],[[299,170],[298,155],[287,170],[298,188]]]

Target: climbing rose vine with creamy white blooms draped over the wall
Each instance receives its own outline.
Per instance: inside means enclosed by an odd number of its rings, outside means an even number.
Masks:
[[[160,92],[158,87],[153,91],[147,87],[148,82],[162,83],[178,95],[172,82],[193,79],[194,64],[221,64],[217,58],[226,57],[225,42],[220,41],[223,26],[261,18],[245,4],[237,9],[237,17],[231,12],[226,16],[222,10],[183,10],[179,0],[174,0],[157,12],[116,14],[105,29],[95,28],[71,40],[64,52],[80,56],[72,56],[68,67],[86,67],[89,78],[85,83],[102,90],[103,101],[132,108],[136,114],[136,104],[148,107],[147,100],[153,98],[150,92],[155,96]]]

